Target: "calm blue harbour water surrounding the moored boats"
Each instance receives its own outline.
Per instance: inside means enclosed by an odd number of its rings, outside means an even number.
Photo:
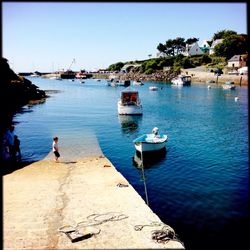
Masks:
[[[120,117],[117,100],[123,87],[91,79],[84,84],[32,81],[40,89],[60,91],[15,116],[25,160],[45,157],[54,135],[93,135],[105,156],[145,199],[137,167],[140,158],[132,141],[156,126],[169,139],[166,153],[144,163],[151,209],[175,229],[186,249],[249,245],[242,228],[249,226],[250,208],[246,87],[230,91],[219,86],[208,89],[205,84],[176,88],[145,82],[134,87],[143,115]],[[159,90],[150,91],[153,85]]]

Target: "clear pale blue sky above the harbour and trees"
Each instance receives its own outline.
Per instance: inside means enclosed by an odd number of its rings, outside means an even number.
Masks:
[[[96,70],[156,56],[168,39],[247,33],[247,4],[2,2],[2,55],[16,72]]]

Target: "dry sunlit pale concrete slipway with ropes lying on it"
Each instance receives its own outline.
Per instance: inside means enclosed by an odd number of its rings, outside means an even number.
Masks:
[[[3,176],[3,212],[4,249],[185,249],[152,239],[163,223],[104,155]],[[69,228],[89,237],[72,242]]]

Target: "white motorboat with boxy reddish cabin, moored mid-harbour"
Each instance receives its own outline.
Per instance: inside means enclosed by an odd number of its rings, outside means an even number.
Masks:
[[[139,92],[130,87],[121,91],[120,100],[118,100],[117,106],[119,115],[142,115]]]

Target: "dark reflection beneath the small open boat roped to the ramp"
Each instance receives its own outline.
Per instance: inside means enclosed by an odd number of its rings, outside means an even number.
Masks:
[[[158,151],[144,152],[143,154],[136,150],[135,155],[133,156],[133,165],[140,169],[147,169],[153,166],[156,167],[158,163],[166,159],[166,156],[167,150],[165,147]]]

